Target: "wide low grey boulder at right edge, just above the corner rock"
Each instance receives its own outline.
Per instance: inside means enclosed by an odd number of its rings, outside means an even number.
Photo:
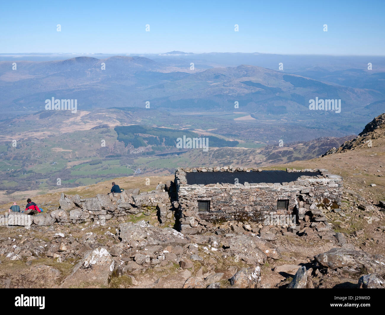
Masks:
[[[361,250],[332,248],[328,252],[316,255],[314,258],[323,267],[334,270],[340,268],[347,273],[377,273],[380,276],[385,274],[385,257],[372,255]]]

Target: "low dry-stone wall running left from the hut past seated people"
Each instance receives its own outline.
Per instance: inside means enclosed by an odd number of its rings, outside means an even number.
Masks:
[[[171,182],[157,185],[155,190],[140,192],[139,188],[127,189],[122,193],[97,194],[92,198],[81,198],[79,195],[62,193],[60,208],[49,213],[15,213],[0,215],[0,225],[17,226],[51,226],[70,225],[75,223],[99,222],[115,219],[124,222],[133,215],[158,216],[161,225],[173,225],[174,208],[169,192]],[[174,202],[178,207],[177,202]],[[38,205],[41,207],[41,205]]]

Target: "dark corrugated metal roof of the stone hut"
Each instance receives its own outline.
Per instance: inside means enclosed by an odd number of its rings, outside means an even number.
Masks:
[[[262,172],[186,172],[188,185],[194,184],[216,184],[229,183],[234,184],[235,178],[238,178],[238,183],[285,183],[293,182],[300,176],[316,176],[321,175],[320,172],[291,172],[286,171],[262,171]]]

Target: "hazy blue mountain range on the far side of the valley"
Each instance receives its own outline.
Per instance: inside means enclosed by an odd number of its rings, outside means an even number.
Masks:
[[[101,70],[105,63],[105,70]],[[77,99],[79,109],[116,106],[186,110],[240,108],[274,115],[309,113],[308,101],[341,99],[347,117],[368,104],[385,99],[382,92],[324,83],[296,74],[239,65],[170,72],[162,63],[143,57],[107,59],[76,57],[50,62],[0,62],[1,106],[13,110],[41,110],[47,98]],[[244,83],[248,82],[248,84]],[[259,85],[258,85],[259,84]],[[370,108],[369,112],[378,108]],[[368,113],[368,115],[370,114]]]

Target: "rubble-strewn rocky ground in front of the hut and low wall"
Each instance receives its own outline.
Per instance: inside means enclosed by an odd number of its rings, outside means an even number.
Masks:
[[[139,196],[152,193],[156,190]],[[352,192],[345,197],[346,202],[359,202]],[[159,222],[159,207],[110,220],[2,226],[0,286],[383,287],[385,257],[375,253],[384,245],[381,208],[360,203],[336,210],[310,209],[330,221],[338,217],[346,227],[360,218],[365,222],[372,218],[368,225],[375,221],[377,227],[373,233],[364,226],[341,233],[336,232],[340,227],[327,222],[313,225],[305,216],[300,230],[225,222],[212,232],[183,235],[172,228],[172,220]]]

